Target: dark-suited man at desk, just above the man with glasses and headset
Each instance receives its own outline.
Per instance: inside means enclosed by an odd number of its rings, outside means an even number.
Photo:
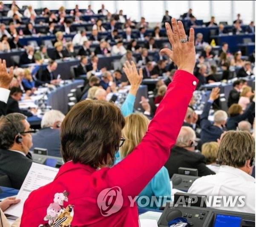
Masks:
[[[26,115],[28,117],[33,116],[32,112],[21,110],[18,104],[18,101],[20,101],[22,97],[22,90],[19,87],[12,87],[10,91],[10,96],[7,101],[7,114],[9,113],[21,113],[23,115]],[[36,111],[33,109],[33,112],[36,113]]]

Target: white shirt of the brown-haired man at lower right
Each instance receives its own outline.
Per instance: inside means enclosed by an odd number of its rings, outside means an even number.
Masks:
[[[195,180],[188,193],[209,196],[245,196],[244,207],[238,207],[239,201],[234,207],[224,207],[221,199],[220,210],[235,212],[255,213],[255,179],[239,168],[221,165],[219,172]],[[213,198],[212,198],[213,200]]]

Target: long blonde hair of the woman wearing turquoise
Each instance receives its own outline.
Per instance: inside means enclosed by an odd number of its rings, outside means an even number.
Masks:
[[[125,138],[124,145],[120,147],[121,158],[130,154],[133,149],[141,143],[142,138],[147,132],[150,120],[143,114],[131,114],[125,118],[125,126],[122,136]]]

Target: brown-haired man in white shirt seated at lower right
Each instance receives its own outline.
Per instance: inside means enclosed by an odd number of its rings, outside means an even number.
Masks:
[[[239,206],[240,202],[224,206],[221,202],[218,209],[255,213],[255,179],[250,176],[255,165],[254,138],[249,132],[227,132],[221,138],[217,158],[220,164],[218,173],[196,179],[188,193],[206,195],[207,199],[209,196],[234,198],[243,195],[244,206]]]

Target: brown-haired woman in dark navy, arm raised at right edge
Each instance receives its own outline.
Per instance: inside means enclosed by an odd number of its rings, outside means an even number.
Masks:
[[[248,109],[243,112],[242,106],[239,104],[232,104],[228,109],[229,118],[227,119],[227,130],[236,130],[238,123],[244,121],[247,118],[253,117],[255,113],[255,102],[248,107]]]

